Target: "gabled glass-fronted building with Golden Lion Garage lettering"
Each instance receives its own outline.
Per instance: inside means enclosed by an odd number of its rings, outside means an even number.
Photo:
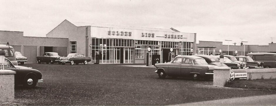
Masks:
[[[68,53],[100,56],[100,63],[146,63],[147,48],[168,62],[170,49],[175,55],[189,55],[195,47],[196,33],[183,33],[173,28],[158,29],[136,26],[119,26],[69,22],[64,20],[47,38],[67,38]]]

